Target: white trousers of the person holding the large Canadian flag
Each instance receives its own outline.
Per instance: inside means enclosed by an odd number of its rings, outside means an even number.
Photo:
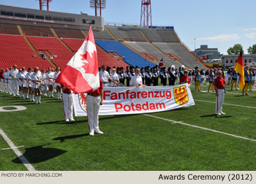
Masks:
[[[100,96],[86,96],[87,119],[89,130],[99,130],[99,104]]]

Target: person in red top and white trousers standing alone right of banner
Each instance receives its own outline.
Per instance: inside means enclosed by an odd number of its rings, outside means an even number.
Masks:
[[[217,72],[217,78],[214,80],[214,88],[216,91],[216,114],[217,115],[225,115],[224,112],[222,112],[222,104],[224,102],[225,98],[225,84],[224,79],[222,77],[222,71],[219,70]]]

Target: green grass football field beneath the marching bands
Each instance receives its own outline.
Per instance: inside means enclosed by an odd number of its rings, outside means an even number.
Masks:
[[[184,171],[256,170],[256,92],[241,96],[227,87],[223,112],[214,93],[195,92],[195,106],[147,115],[99,117],[105,134],[89,136],[86,117],[65,122],[62,101],[35,104],[0,92],[0,129],[36,170]],[[206,86],[203,86],[206,91]],[[27,168],[0,136],[0,170]]]

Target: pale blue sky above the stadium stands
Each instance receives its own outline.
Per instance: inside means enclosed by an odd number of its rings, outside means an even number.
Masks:
[[[102,17],[108,23],[140,24],[140,0],[107,0]],[[0,4],[39,9],[36,0],[1,0]],[[191,50],[196,45],[227,49],[240,43],[247,48],[256,44],[255,0],[151,0],[152,23],[174,26],[178,36]],[[89,0],[53,0],[50,11],[80,12],[94,15]]]

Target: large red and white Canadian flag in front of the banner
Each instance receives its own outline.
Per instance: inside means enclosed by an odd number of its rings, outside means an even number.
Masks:
[[[89,33],[83,45],[56,79],[74,93],[90,93],[99,88],[99,69],[94,34]]]

